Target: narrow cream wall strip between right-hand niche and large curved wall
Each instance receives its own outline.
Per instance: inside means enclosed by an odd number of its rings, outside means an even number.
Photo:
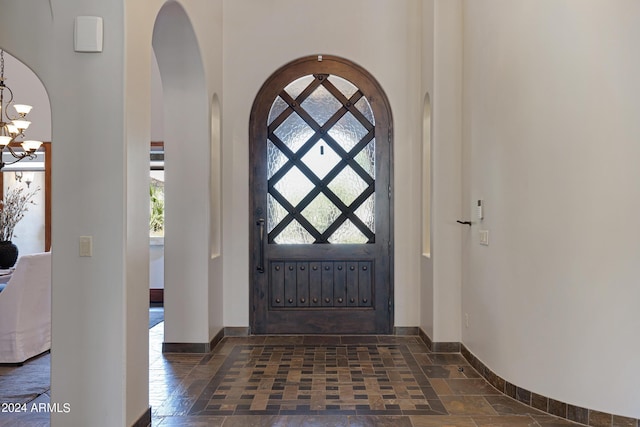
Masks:
[[[421,259],[420,326],[435,342],[459,342],[461,230],[466,227],[456,223],[463,217],[462,2],[424,1],[422,16],[421,111],[427,95],[431,104],[431,162],[423,165],[431,188],[422,197],[431,199],[431,248]]]

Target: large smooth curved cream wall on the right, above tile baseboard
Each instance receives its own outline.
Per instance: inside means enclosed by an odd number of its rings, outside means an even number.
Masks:
[[[464,3],[465,345],[506,380],[640,417],[640,4]]]

